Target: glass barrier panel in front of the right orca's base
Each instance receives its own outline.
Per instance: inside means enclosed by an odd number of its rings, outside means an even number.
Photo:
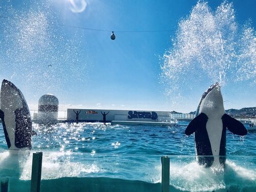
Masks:
[[[256,191],[256,156],[170,157],[170,191]],[[214,158],[209,167],[198,161]]]

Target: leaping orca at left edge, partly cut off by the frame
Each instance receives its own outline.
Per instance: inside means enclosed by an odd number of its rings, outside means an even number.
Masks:
[[[6,79],[1,87],[0,117],[10,150],[31,149],[32,121],[22,92]]]

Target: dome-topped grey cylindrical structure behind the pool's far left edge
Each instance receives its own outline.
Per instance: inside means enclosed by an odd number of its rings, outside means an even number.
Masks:
[[[58,98],[52,94],[42,95],[38,101],[38,114],[36,121],[38,123],[56,123],[58,122]]]

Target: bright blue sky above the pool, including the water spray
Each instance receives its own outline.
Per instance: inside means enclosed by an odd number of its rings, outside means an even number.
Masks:
[[[226,109],[256,106],[255,7],[252,0],[1,1],[0,79],[23,92],[30,110],[51,93],[60,110],[188,113],[216,81]]]

